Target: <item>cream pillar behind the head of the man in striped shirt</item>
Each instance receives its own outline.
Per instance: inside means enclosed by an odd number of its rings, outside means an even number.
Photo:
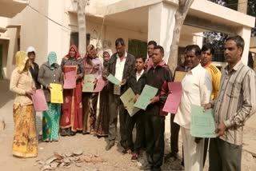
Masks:
[[[242,29],[238,30],[238,35],[240,35],[245,40],[245,47],[242,53],[242,62],[247,65],[248,62],[248,54],[250,50],[250,28],[242,27]]]

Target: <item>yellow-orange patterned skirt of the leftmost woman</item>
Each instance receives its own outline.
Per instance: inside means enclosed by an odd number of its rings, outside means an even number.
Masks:
[[[37,157],[38,155],[33,105],[14,104],[13,155],[17,157]]]

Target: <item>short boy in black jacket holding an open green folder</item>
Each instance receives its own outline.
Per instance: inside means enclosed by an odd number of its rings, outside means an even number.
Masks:
[[[144,70],[145,58],[136,57],[135,58],[135,67],[133,74],[131,74],[128,79],[128,86],[134,91],[136,97],[142,93],[143,86],[146,82],[146,71]],[[135,97],[135,98],[136,98]],[[143,145],[144,139],[144,111],[141,109],[134,116],[127,117],[127,130],[128,130],[128,148],[133,151],[131,160],[137,161],[138,154]],[[136,140],[133,141],[133,129],[136,123]]]

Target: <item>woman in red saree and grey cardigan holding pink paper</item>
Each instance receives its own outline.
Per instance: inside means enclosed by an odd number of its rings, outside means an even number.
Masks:
[[[60,121],[61,135],[74,136],[78,130],[82,130],[82,78],[84,75],[83,61],[77,46],[70,46],[69,54],[62,58],[62,73],[75,70],[76,82],[73,89],[63,89],[62,116]],[[64,79],[65,82],[70,78]]]

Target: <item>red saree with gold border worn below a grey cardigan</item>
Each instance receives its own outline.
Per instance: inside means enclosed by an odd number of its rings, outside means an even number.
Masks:
[[[64,73],[70,70],[72,67],[64,67]],[[78,81],[74,89],[63,89],[60,127],[71,128],[73,132],[82,130],[82,81]]]

